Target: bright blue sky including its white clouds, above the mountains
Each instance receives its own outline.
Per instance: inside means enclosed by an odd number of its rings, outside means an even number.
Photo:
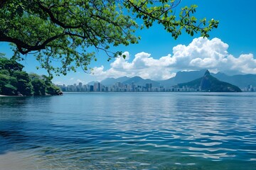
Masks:
[[[209,69],[225,74],[256,74],[256,1],[255,0],[183,0],[178,8],[197,4],[196,18],[214,18],[220,21],[210,38],[200,35],[191,37],[183,33],[177,40],[162,26],[138,30],[142,40],[137,45],[119,46],[127,58],[112,59],[97,52],[97,62],[92,62],[93,74],[78,69],[67,76],[54,77],[55,84],[87,84],[107,77],[134,77],[163,80],[174,77],[178,71]],[[13,53],[6,42],[0,42],[0,52],[6,56]],[[22,62],[26,72],[47,74],[36,69],[38,62],[27,55]]]

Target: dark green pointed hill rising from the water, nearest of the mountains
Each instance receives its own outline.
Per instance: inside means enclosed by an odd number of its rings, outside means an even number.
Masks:
[[[203,77],[189,81],[187,83],[178,84],[178,86],[188,86],[193,89],[201,88],[202,91],[211,92],[241,92],[241,89],[238,86],[216,79],[210,75],[208,70],[206,70],[206,73]]]

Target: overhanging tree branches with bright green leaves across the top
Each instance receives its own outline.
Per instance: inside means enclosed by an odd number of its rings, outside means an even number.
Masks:
[[[36,52],[36,59],[48,73],[67,74],[82,67],[85,71],[95,50],[109,57],[110,46],[139,41],[135,30],[161,24],[176,39],[183,31],[208,37],[218,21],[198,20],[196,5],[181,0],[4,0],[0,4],[0,41],[14,44],[15,57]],[[139,21],[140,20],[140,21]],[[140,27],[137,23],[142,22]],[[125,56],[123,56],[125,57]],[[53,61],[60,67],[53,67]]]

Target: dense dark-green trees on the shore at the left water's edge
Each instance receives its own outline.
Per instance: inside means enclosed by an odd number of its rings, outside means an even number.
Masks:
[[[4,95],[58,95],[60,89],[46,76],[28,74],[15,60],[0,57],[0,94]]]

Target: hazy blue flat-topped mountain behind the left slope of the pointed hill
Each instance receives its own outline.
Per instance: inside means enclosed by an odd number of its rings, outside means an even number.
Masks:
[[[199,77],[202,77],[205,72],[206,69],[191,72],[177,72],[175,77],[172,77],[171,79],[166,79],[164,81],[159,81],[159,83],[161,84],[161,86],[174,86],[177,84],[192,81],[194,79],[198,79]]]

